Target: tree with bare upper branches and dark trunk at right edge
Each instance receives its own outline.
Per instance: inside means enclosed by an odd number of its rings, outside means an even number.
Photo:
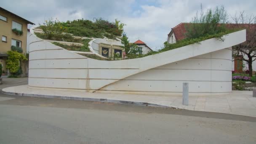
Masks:
[[[234,58],[239,57],[241,61],[248,63],[249,76],[251,77],[252,63],[256,60],[256,15],[248,15],[242,11],[231,18],[237,24],[237,28],[246,28],[246,35],[249,35],[244,43],[232,47],[232,53]]]

